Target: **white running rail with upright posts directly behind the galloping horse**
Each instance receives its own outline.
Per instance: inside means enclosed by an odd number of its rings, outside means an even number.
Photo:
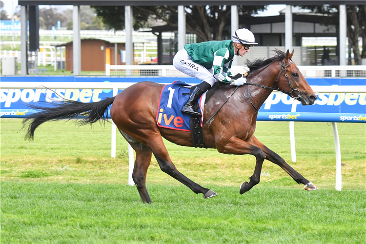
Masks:
[[[165,66],[165,65],[164,65]],[[118,89],[125,89],[133,82],[1,82],[0,88],[38,88],[47,87],[50,89],[58,88],[73,88],[73,89],[113,89],[113,97],[117,96]],[[37,86],[37,87],[35,87]],[[315,93],[366,93],[366,86],[361,85],[332,85],[332,86],[311,86]],[[291,112],[296,112],[296,103],[292,105]],[[116,125],[112,122],[112,140],[111,140],[111,157],[116,157]],[[336,150],[336,190],[342,189],[342,174],[341,174],[341,146],[339,143],[337,123],[332,122],[334,143]],[[290,122],[290,142],[291,142],[291,159],[296,162],[296,151],[295,151],[295,136],[294,136],[294,122]],[[128,143],[127,143],[128,144]],[[128,171],[128,184],[134,185],[132,179],[132,170],[134,167],[134,155],[133,149],[128,144],[128,155],[129,155],[129,171]]]

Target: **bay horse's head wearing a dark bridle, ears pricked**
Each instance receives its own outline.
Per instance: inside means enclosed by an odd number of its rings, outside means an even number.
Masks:
[[[299,100],[303,105],[314,104],[317,97],[296,64],[291,60],[293,54],[293,49],[292,53],[287,49],[285,58],[281,61],[282,67],[277,77],[277,87],[290,97]]]

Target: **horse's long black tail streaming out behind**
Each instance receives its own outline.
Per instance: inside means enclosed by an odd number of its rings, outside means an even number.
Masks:
[[[100,120],[107,121],[108,118],[104,113],[114,99],[114,97],[106,98],[100,102],[89,103],[65,100],[64,102],[53,102],[51,107],[29,104],[27,105],[29,108],[39,110],[39,112],[31,114],[23,120],[23,128],[28,125],[25,140],[33,140],[36,128],[47,121],[79,119],[76,122],[79,125],[91,124]],[[83,114],[87,116],[80,118]]]

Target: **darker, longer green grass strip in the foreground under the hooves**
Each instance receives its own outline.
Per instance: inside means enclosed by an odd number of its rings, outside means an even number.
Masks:
[[[365,192],[1,183],[1,243],[365,243]]]

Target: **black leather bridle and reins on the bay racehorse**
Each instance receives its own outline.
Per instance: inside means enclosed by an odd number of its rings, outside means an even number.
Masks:
[[[274,87],[269,87],[269,86],[265,86],[265,85],[260,85],[260,84],[254,84],[254,83],[244,83],[244,85],[248,85],[246,86],[247,90],[248,90],[248,97],[249,97],[249,102],[250,104],[252,104],[253,108],[255,110],[259,110],[259,108],[256,108],[256,106],[254,106],[253,102],[252,102],[252,98],[250,97],[250,92],[249,92],[249,85],[254,85],[254,86],[259,86],[259,87],[262,87],[262,88],[266,88],[266,89],[271,89],[271,90],[276,90],[276,91],[280,91],[280,92],[283,92],[285,94],[287,94],[288,96],[290,96],[291,98],[294,98],[294,99],[298,99],[298,98],[302,98],[301,94],[300,94],[300,91],[298,89],[294,89],[293,85],[291,84],[291,81],[290,79],[288,78],[288,75],[287,75],[287,71],[286,71],[286,68],[288,66],[290,66],[292,63],[294,63],[293,61],[290,62],[289,64],[287,65],[284,65],[284,61],[281,60],[281,65],[282,65],[282,69],[280,71],[280,73],[278,74],[277,76],[277,79],[276,79],[276,86],[278,87],[278,80],[280,79],[280,75],[282,74],[283,71],[285,71],[285,77],[287,78],[287,81],[288,81],[288,85],[289,87],[291,88],[291,92],[288,92],[288,91],[284,91],[284,90],[281,90],[281,89],[278,89],[278,88],[274,88]],[[206,122],[206,124],[208,124],[212,118],[220,111],[220,109],[224,106],[224,104],[229,100],[229,98],[234,94],[234,92],[239,88],[239,86],[237,86],[232,92],[231,94],[229,95],[229,97],[226,99],[226,101],[223,103],[223,105],[221,105],[221,107],[211,116],[210,119],[208,119],[208,121]],[[299,95],[297,97],[294,97],[292,95],[292,93],[294,91],[297,91],[299,93]],[[309,103],[305,100],[306,104],[308,105]]]

